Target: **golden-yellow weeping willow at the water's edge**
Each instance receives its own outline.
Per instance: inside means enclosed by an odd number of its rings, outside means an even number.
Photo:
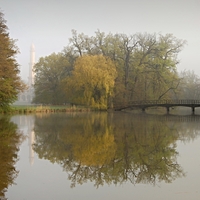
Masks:
[[[111,59],[102,55],[79,57],[72,76],[64,81],[71,103],[100,109],[110,107],[117,72]]]

